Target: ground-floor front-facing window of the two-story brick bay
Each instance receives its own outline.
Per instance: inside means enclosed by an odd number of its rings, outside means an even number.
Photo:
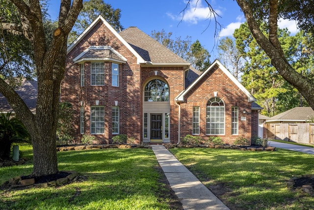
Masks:
[[[102,134],[105,132],[105,108],[104,106],[91,107],[91,126],[92,134]]]

